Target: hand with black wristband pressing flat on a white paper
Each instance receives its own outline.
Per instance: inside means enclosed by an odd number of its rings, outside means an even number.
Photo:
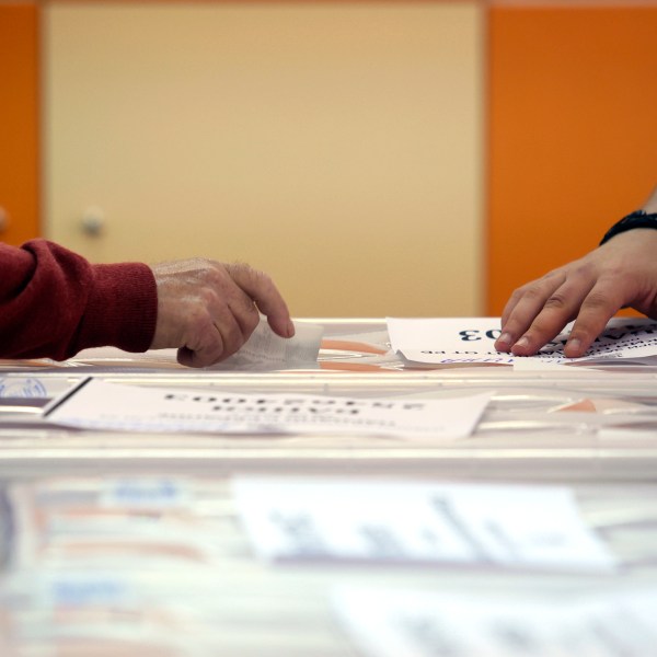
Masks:
[[[657,319],[657,230],[618,234],[518,288],[504,309],[495,348],[532,356],[575,320],[564,353],[577,358],[624,307]]]

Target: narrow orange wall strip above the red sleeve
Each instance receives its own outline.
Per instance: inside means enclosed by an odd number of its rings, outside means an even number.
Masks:
[[[38,11],[0,3],[0,206],[10,219],[0,239],[38,233]]]

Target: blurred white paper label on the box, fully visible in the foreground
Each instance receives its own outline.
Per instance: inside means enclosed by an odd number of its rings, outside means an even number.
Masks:
[[[238,477],[260,556],[609,572],[565,487]]]

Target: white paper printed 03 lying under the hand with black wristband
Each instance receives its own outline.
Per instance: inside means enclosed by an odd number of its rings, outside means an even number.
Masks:
[[[657,356],[657,322],[647,319],[611,320],[581,358],[566,358],[563,348],[570,325],[535,356],[512,356],[495,350],[499,318],[388,318],[391,348],[406,360],[426,365],[514,365],[540,361],[561,365],[629,362],[650,364]]]

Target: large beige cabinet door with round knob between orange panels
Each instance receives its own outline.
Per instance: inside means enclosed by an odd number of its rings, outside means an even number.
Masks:
[[[479,314],[482,11],[47,4],[46,234],[246,261],[297,316]]]

